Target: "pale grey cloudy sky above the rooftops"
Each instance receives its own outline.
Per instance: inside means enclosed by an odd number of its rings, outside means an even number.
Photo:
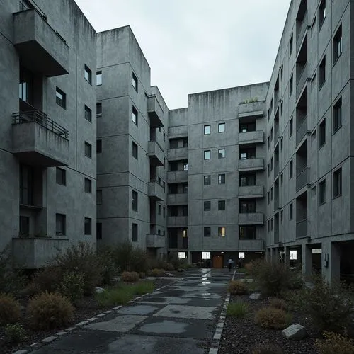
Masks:
[[[268,81],[290,0],[75,0],[97,31],[130,25],[170,109]]]

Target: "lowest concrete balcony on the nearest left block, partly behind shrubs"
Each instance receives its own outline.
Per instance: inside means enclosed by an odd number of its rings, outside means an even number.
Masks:
[[[65,251],[69,246],[69,239],[51,237],[12,239],[13,262],[16,268],[43,268],[59,251]]]

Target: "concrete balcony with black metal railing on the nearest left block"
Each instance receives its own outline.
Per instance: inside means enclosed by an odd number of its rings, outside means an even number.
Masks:
[[[26,164],[69,164],[69,132],[40,110],[13,113],[13,154]]]

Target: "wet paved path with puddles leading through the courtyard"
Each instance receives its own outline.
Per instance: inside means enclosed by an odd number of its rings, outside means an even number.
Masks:
[[[207,353],[214,336],[227,270],[183,273],[183,280],[81,327],[33,354]]]

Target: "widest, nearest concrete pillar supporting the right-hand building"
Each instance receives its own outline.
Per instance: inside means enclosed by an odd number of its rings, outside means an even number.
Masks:
[[[338,244],[322,242],[322,277],[330,283],[340,281],[341,252]]]

